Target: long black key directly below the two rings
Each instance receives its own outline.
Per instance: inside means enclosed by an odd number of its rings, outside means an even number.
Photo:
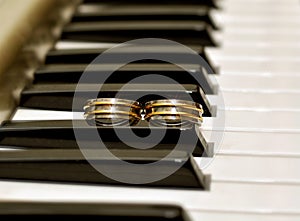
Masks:
[[[88,125],[84,120],[78,120],[77,131],[82,131],[85,134],[91,134],[90,131],[95,130],[94,127]],[[78,126],[80,125],[80,126]],[[147,140],[149,145],[153,146],[152,150],[172,150],[178,142],[179,136],[184,136],[184,147],[186,151],[194,149],[194,156],[211,156],[213,152],[212,144],[206,143],[201,133],[197,135],[193,126],[181,128],[176,127],[149,127],[148,123],[141,121],[138,125],[131,127],[112,127],[112,126],[97,126],[97,130],[101,140],[108,149],[132,149],[130,144],[142,146],[145,141],[137,141],[128,138],[127,144],[123,143],[117,134],[124,134],[126,130],[132,130],[139,137],[146,137],[150,134],[150,129],[154,133],[164,134],[160,143],[152,140]],[[194,138],[197,138],[195,140]],[[196,141],[196,142],[195,142]],[[88,137],[85,142],[90,149],[100,147],[98,140]],[[139,143],[143,142],[143,143]],[[0,127],[0,148],[10,149],[78,149],[78,144],[75,139],[72,121],[24,121],[15,122],[7,121]]]

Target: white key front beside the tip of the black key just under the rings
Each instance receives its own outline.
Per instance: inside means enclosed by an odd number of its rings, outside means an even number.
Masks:
[[[202,129],[208,142],[215,142],[215,151],[229,154],[265,154],[267,156],[299,156],[299,133],[264,133],[246,131],[211,131]]]

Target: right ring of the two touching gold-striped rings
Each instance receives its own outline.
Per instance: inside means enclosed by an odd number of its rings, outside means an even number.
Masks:
[[[145,120],[153,126],[201,125],[201,104],[185,100],[154,100],[145,104]]]

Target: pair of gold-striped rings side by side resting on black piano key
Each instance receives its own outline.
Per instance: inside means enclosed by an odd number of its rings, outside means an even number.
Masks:
[[[136,125],[147,120],[154,126],[201,125],[201,104],[177,99],[146,102],[119,98],[97,98],[88,100],[84,106],[84,117],[89,124],[99,126]]]

